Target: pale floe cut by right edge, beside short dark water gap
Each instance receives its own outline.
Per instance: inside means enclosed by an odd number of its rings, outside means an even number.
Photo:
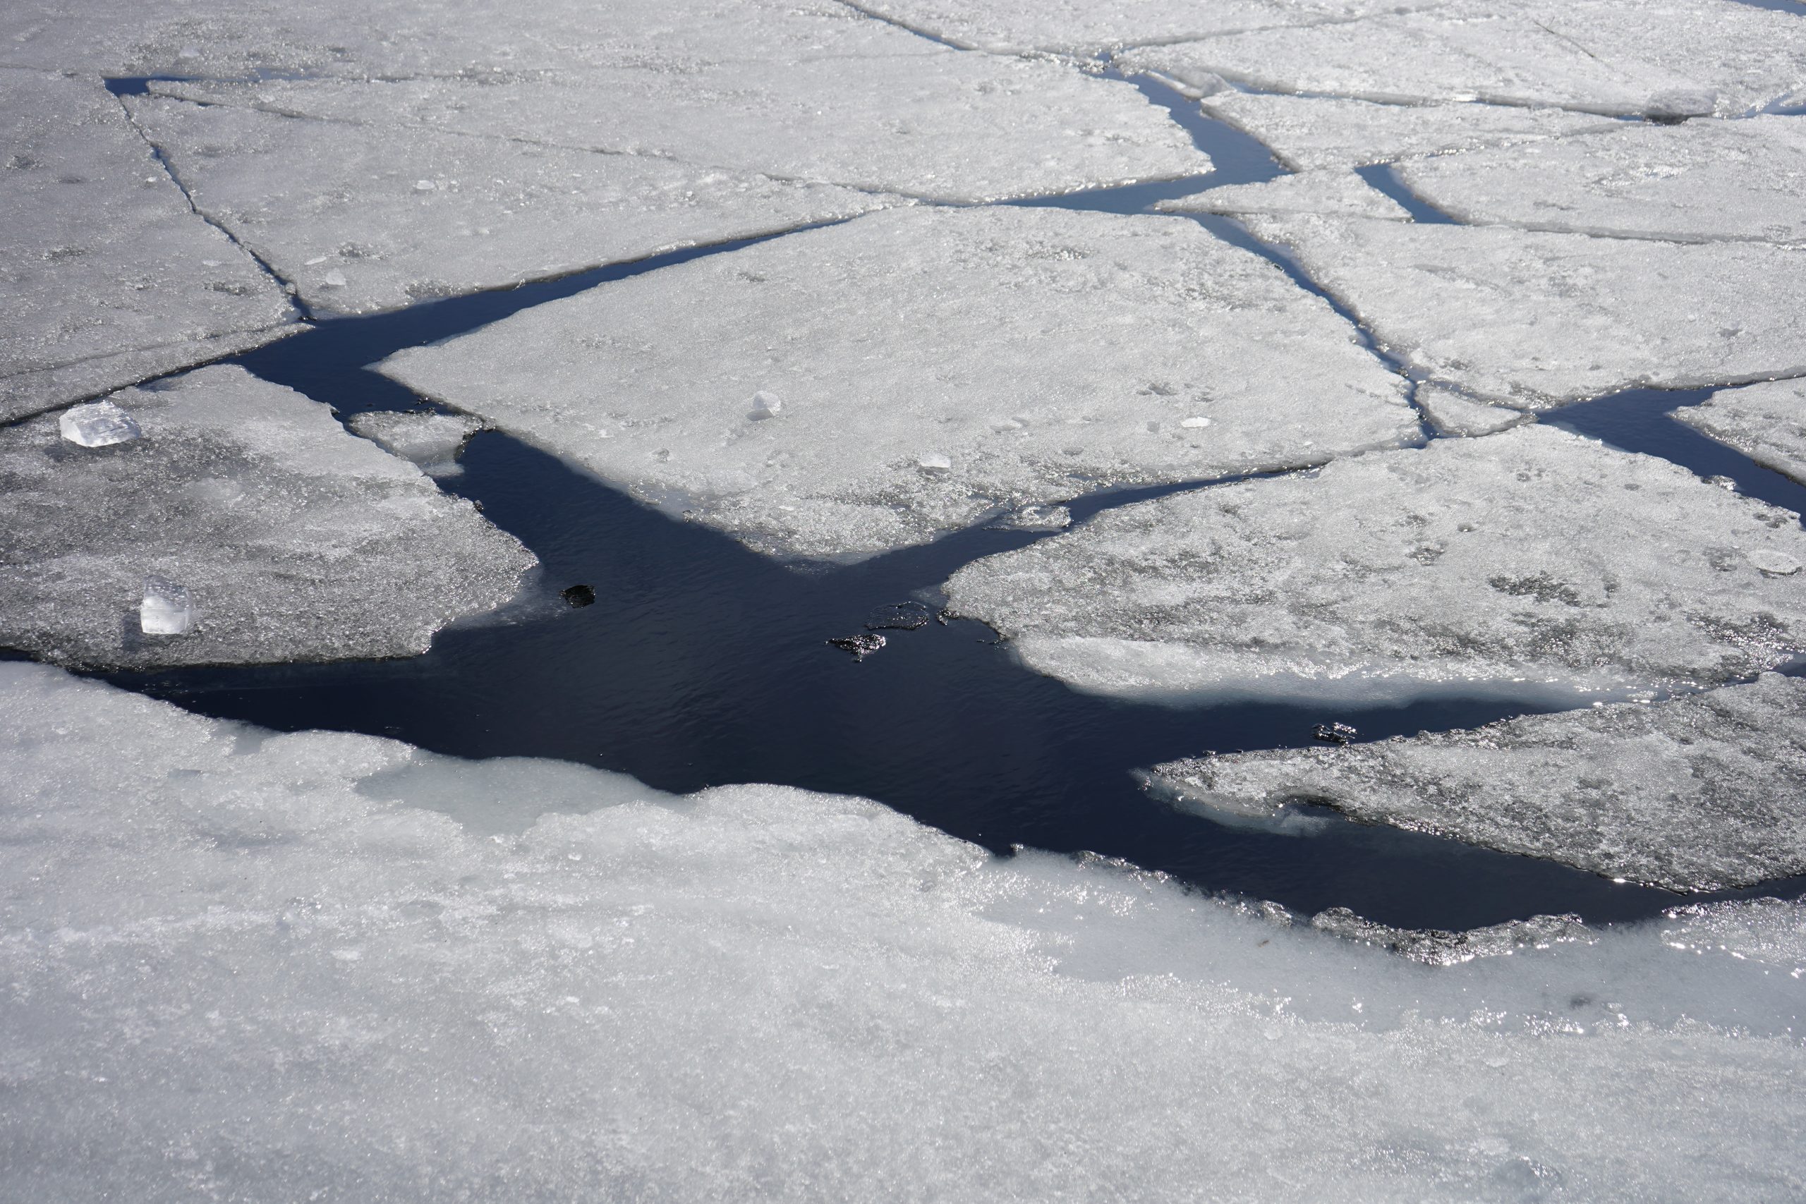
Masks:
[[[1613,123],[1611,130],[1400,166],[1463,222],[1707,242],[1806,242],[1799,117]]]

